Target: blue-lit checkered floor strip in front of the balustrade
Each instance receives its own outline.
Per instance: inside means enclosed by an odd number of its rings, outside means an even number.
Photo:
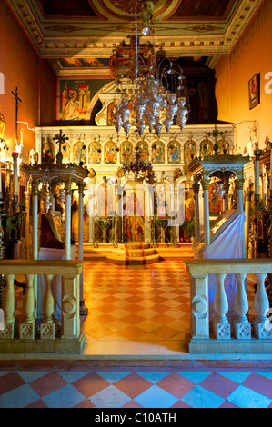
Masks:
[[[272,372],[0,372],[1,408],[272,408]]]

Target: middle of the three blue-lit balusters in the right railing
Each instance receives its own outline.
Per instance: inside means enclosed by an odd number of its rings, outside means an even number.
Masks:
[[[234,333],[238,339],[251,338],[251,324],[247,319],[248,300],[245,283],[247,274],[236,274],[237,293],[234,300],[236,317],[234,319]]]

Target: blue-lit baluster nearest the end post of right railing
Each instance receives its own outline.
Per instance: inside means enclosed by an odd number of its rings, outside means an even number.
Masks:
[[[216,317],[214,319],[214,335],[217,339],[230,338],[230,325],[226,313],[228,311],[227,295],[224,287],[224,280],[227,274],[216,274],[217,293],[214,307]]]

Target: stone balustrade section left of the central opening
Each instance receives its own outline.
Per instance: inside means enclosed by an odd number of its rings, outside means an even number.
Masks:
[[[80,333],[79,280],[83,263],[78,261],[1,260],[0,274],[5,276],[3,310],[4,327],[0,331],[2,353],[79,353],[84,347]],[[15,315],[15,276],[24,275],[26,281],[23,313]],[[43,307],[45,316],[40,324],[35,317],[35,279],[45,276]],[[62,276],[61,326],[54,317],[55,299],[52,281]],[[39,285],[37,281],[37,286]]]

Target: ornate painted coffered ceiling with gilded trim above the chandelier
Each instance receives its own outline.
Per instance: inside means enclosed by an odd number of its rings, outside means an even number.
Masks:
[[[153,0],[151,41],[167,56],[213,67],[263,0]],[[7,0],[26,35],[58,75],[101,74],[120,43],[141,30],[143,0]],[[137,15],[136,15],[137,10]],[[149,38],[148,38],[149,37]],[[150,40],[150,38],[152,40]]]

